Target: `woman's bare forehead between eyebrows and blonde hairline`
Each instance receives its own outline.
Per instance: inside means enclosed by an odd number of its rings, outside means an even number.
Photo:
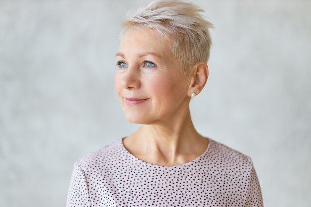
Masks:
[[[152,52],[170,55],[169,40],[158,35],[153,29],[131,28],[125,31],[120,41],[119,52]]]

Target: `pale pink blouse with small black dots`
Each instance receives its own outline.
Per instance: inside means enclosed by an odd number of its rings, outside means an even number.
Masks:
[[[75,162],[66,207],[263,207],[251,158],[220,142],[208,138],[196,159],[161,166],[122,139]]]

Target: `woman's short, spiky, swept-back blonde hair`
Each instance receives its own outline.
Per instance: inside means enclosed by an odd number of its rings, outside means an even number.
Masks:
[[[122,23],[122,35],[129,28],[154,29],[165,38],[172,37],[171,51],[186,75],[197,63],[208,62],[212,45],[209,28],[213,24],[199,12],[197,5],[181,0],[156,0],[133,15],[129,12]]]

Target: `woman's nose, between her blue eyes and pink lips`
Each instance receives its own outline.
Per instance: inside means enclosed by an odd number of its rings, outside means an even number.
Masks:
[[[125,89],[133,89],[136,90],[141,87],[140,73],[139,69],[134,67],[129,67],[122,76],[121,79],[122,87]]]

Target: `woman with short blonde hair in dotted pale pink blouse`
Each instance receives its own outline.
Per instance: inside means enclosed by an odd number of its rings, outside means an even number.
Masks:
[[[141,127],[75,162],[67,207],[263,207],[251,158],[191,121],[212,43],[201,11],[160,0],[123,22],[115,89]]]

